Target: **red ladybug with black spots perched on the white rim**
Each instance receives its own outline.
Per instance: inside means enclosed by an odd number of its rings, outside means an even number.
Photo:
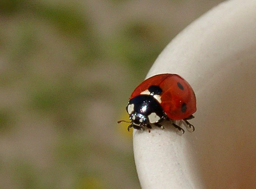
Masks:
[[[194,118],[196,111],[196,97],[188,82],[177,74],[164,73],[144,80],[132,92],[126,111],[131,121],[128,131],[134,129],[150,129],[151,125],[163,128],[161,123],[172,121],[172,125],[184,133],[184,129],[175,121],[183,120],[189,128],[195,127],[188,122]]]

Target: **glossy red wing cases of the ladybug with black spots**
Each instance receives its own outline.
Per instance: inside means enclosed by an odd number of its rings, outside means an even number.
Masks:
[[[132,92],[132,99],[155,85],[162,89],[161,106],[172,120],[182,120],[196,111],[196,97],[188,82],[177,74],[159,74],[144,80]]]

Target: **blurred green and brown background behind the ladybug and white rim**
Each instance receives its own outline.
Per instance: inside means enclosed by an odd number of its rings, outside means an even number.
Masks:
[[[0,188],[140,188],[116,121],[162,49],[220,2],[0,0]]]

